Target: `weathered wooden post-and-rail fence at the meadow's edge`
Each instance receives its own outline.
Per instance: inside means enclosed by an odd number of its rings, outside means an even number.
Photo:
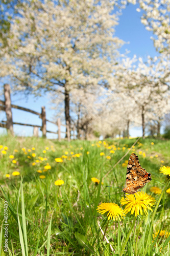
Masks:
[[[67,134],[67,140],[70,141],[70,129],[69,129],[69,123],[67,121],[66,125],[61,124],[60,118],[58,118],[57,122],[53,122],[51,120],[46,119],[46,112],[45,112],[45,106],[41,107],[41,113],[38,113],[36,111],[23,108],[22,106],[14,105],[11,104],[11,96],[10,96],[10,86],[9,84],[4,84],[4,96],[5,96],[5,101],[0,100],[0,110],[3,110],[6,112],[7,116],[7,121],[2,121],[0,122],[0,127],[6,128],[8,133],[14,135],[13,132],[13,124],[18,124],[18,125],[24,125],[24,126],[32,126],[34,127],[33,135],[38,137],[38,129],[42,131],[42,136],[45,138],[46,133],[54,133],[58,134],[58,140],[61,141],[61,133]],[[13,117],[12,117],[12,108],[13,109],[18,109],[18,110],[23,110],[26,112],[30,112],[32,114],[38,115],[39,118],[42,119],[42,125],[35,125],[35,124],[28,124],[28,123],[20,123],[20,122],[13,122]],[[46,130],[46,122],[53,123],[58,126],[58,131],[57,132],[52,132],[52,131],[47,131]],[[66,127],[66,132],[61,131],[61,126]],[[73,137],[74,139],[76,138],[75,134],[75,127],[72,127],[73,131]]]

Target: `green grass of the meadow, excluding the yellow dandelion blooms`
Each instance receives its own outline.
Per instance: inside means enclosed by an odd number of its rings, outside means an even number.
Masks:
[[[125,155],[134,142],[135,139],[107,140],[108,145],[104,145],[103,142],[102,144],[89,141],[71,141],[70,143],[63,141],[59,143],[58,141],[41,138],[1,137],[0,144],[8,146],[8,150],[6,155],[0,155],[0,183],[13,209],[13,215],[9,212],[8,219],[11,238],[9,248],[11,250],[14,248],[14,255],[20,255],[18,223],[15,220],[20,176],[12,176],[14,170],[20,172],[23,177],[29,255],[34,254],[36,246],[40,248],[46,241],[47,228],[53,210],[51,253],[55,255],[72,255],[72,252],[75,252],[74,255],[90,255],[90,253],[93,255],[110,255],[110,247],[102,241],[101,232],[98,224],[96,224],[96,206],[100,202],[114,202],[120,205],[119,201],[123,196],[122,186],[125,184],[126,177],[126,167],[123,167],[122,164],[129,159],[132,152],[138,155],[141,166],[152,174],[152,181],[142,189],[151,195],[150,187],[163,188],[165,184],[165,176],[159,173],[161,164],[169,166],[170,142],[147,138],[145,140],[140,139],[141,144],[136,144],[124,160],[113,169],[114,164]],[[151,142],[154,142],[154,145],[151,145]],[[91,144],[94,144],[94,146]],[[111,148],[108,148],[108,146],[111,146]],[[35,151],[28,152],[28,149],[32,147],[35,147]],[[50,149],[46,150],[46,153],[42,153],[45,147]],[[110,153],[110,150],[113,150],[114,147],[116,147],[115,153]],[[27,154],[21,148],[25,148]],[[18,152],[14,152],[15,149]],[[79,155],[72,157],[71,152],[74,152],[73,155],[80,154],[80,157]],[[89,152],[88,155],[87,152]],[[101,152],[104,152],[105,156],[100,156]],[[35,153],[36,157],[32,157],[32,153]],[[146,157],[143,157],[143,153]],[[10,155],[14,155],[14,159],[17,161],[16,164],[12,163],[13,159],[9,158]],[[67,156],[67,159],[63,159],[62,163],[57,163],[55,158],[62,155]],[[31,156],[31,159],[28,156]],[[70,160],[68,160],[69,156]],[[106,159],[106,156],[111,156],[111,159]],[[35,160],[40,160],[38,157],[47,158],[47,160],[33,166],[32,163],[36,162]],[[161,161],[164,162],[161,163]],[[51,165],[51,169],[43,172],[43,167],[47,163]],[[42,173],[36,172],[37,170],[42,170]],[[109,171],[110,173],[105,176]],[[10,174],[10,178],[7,178],[6,174]],[[40,175],[45,175],[46,178],[40,179]],[[101,176],[105,176],[105,178],[102,180],[104,185],[101,186],[100,190],[100,186],[93,184],[91,178],[100,179]],[[65,182],[61,187],[54,184],[58,179]],[[120,186],[120,188],[106,188],[105,185]],[[3,197],[4,193],[2,194]],[[158,195],[154,197],[158,199]],[[162,225],[163,229],[169,226],[170,204],[167,194],[163,196],[161,202],[155,217],[154,230],[161,229]],[[1,205],[3,207],[3,201],[1,201]],[[21,212],[20,204],[19,212]],[[106,214],[97,214],[97,216],[104,229],[107,222]],[[132,219],[133,216],[128,214],[125,222],[120,223],[123,228],[122,231],[119,224],[113,221],[109,222],[107,237],[110,238],[112,246],[118,254],[124,240],[123,234],[127,232],[126,225],[128,229]],[[137,253],[139,255],[147,255],[148,253],[145,249],[140,251],[141,247],[147,245],[146,234],[143,235],[147,219],[145,216],[142,216],[141,219],[141,223],[138,219],[138,224],[140,223],[143,229],[136,229],[136,232],[139,232],[139,238],[144,236],[144,239],[139,239],[141,244],[139,248],[136,248],[135,241],[137,240],[132,237],[126,248],[127,255],[133,255],[128,253],[132,253],[134,250],[136,250],[136,255],[138,255]],[[1,211],[1,220],[3,220],[3,211]],[[159,250],[157,249],[157,251]],[[46,255],[46,244],[38,252]],[[107,252],[109,254],[106,254]]]

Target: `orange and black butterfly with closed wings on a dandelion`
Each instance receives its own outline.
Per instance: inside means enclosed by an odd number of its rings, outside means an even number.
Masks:
[[[128,161],[124,193],[134,195],[137,189],[142,188],[151,180],[151,174],[141,167],[138,156],[132,153]]]

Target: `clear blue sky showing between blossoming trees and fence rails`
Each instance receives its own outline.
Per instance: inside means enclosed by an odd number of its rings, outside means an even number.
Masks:
[[[141,24],[141,13],[137,12],[136,8],[138,8],[138,5],[128,5],[126,9],[122,11],[123,14],[119,17],[119,25],[115,28],[115,36],[129,42],[129,44],[126,44],[121,48],[120,52],[125,53],[127,49],[130,51],[128,57],[133,57],[134,54],[137,55],[137,57],[142,58],[147,58],[148,55],[151,55],[152,57],[157,56],[158,53],[154,48],[153,41],[150,39],[152,33],[145,30],[144,25]],[[4,100],[2,96],[0,99]],[[51,110],[48,94],[41,98],[29,96],[28,100],[24,95],[11,95],[11,99],[13,104],[20,105],[37,112],[41,112],[41,106],[44,105],[46,108],[46,118],[52,121],[54,120],[55,111]],[[41,125],[41,119],[34,114],[15,109],[12,109],[12,112],[13,121],[15,122]],[[5,112],[0,112],[0,120],[6,120]],[[47,122],[47,130],[56,132],[57,126]],[[14,125],[14,132],[19,136],[32,136],[33,127]],[[0,127],[0,133],[6,133],[5,129]],[[141,128],[133,127],[130,129],[130,135],[132,137],[141,136]],[[41,136],[41,132],[39,132],[39,136]],[[57,138],[57,135],[48,133],[47,138]]]

